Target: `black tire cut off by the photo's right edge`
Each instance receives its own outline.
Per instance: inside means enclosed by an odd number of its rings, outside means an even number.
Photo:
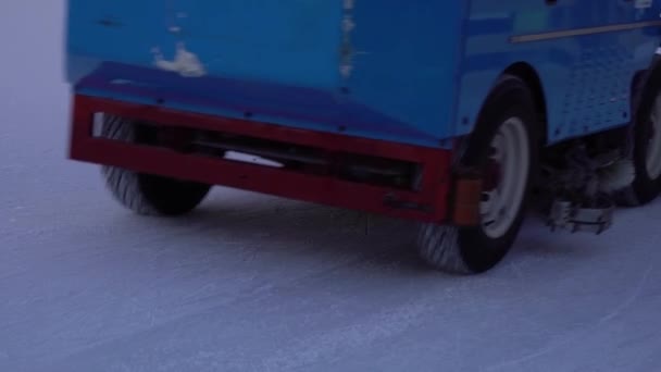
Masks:
[[[641,207],[650,203],[661,195],[661,176],[652,179],[647,172],[647,145],[651,125],[649,116],[654,101],[661,95],[661,66],[657,66],[647,78],[633,127],[633,162],[635,178],[632,185],[622,191],[619,203],[623,207]],[[661,133],[657,134],[661,135]]]

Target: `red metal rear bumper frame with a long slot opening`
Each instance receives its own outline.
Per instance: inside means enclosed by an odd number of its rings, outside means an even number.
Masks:
[[[356,153],[415,162],[422,166],[417,190],[349,182],[174,150],[120,142],[92,135],[93,115],[105,113],[160,125],[222,132],[314,147],[332,154]],[[396,218],[450,222],[450,151],[382,140],[297,129],[157,106],[75,96],[71,158],[182,179],[252,190]]]

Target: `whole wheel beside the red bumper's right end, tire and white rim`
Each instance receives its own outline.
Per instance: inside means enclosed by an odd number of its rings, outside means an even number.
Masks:
[[[485,177],[482,221],[474,227],[423,224],[419,253],[433,268],[457,274],[483,273],[512,247],[538,162],[538,119],[532,97],[522,79],[506,75],[487,99],[461,160]]]

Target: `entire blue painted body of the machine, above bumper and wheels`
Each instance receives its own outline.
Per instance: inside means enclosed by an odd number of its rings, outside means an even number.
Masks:
[[[624,125],[650,0],[68,0],[77,94],[449,148],[529,72],[549,144]]]

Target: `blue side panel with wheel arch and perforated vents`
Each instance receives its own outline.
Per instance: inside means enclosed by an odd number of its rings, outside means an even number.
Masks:
[[[625,124],[632,79],[649,66],[658,27],[517,45],[510,37],[659,18],[659,4],[638,10],[635,3],[574,0],[549,7],[545,1],[472,0],[454,133],[472,131],[498,75],[516,62],[532,65],[541,78],[551,142]]]

